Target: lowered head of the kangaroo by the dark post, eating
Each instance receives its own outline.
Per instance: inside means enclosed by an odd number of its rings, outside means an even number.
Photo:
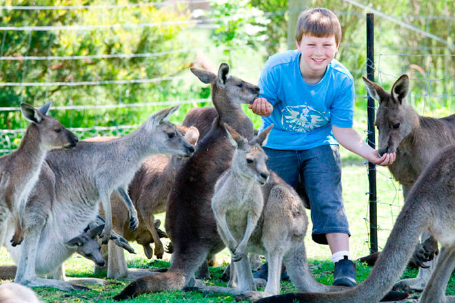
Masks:
[[[407,103],[409,77],[403,74],[386,92],[376,83],[363,77],[367,91],[379,102],[374,125],[378,128],[379,149],[381,156],[396,151],[401,141],[412,132],[413,117],[410,116],[410,104]]]

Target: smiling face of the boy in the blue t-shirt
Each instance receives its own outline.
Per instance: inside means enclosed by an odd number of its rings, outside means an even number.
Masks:
[[[324,74],[325,67],[338,52],[334,35],[320,38],[305,34],[296,45],[302,54],[300,67],[303,74]]]

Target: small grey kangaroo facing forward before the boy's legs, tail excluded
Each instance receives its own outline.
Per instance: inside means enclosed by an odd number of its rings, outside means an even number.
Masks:
[[[225,127],[236,150],[231,167],[216,182],[212,209],[220,236],[232,254],[232,269],[235,268],[239,281],[236,291],[256,291],[250,264],[247,258],[243,258],[247,251],[254,251],[267,255],[269,277],[265,293],[276,295],[280,291],[283,255],[291,247],[300,246],[297,242],[303,241],[305,236],[305,211],[296,193],[277,176],[272,177],[272,184],[265,185],[270,172],[261,146],[267,141],[273,125],[251,142],[229,125]],[[265,192],[261,185],[266,187]],[[281,211],[274,213],[280,208]],[[272,213],[273,219],[270,218]],[[276,222],[286,224],[277,226]]]

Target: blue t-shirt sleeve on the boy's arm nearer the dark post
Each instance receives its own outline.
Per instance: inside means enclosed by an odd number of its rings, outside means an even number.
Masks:
[[[354,119],[354,81],[349,77],[341,83],[339,93],[330,107],[330,122],[336,127],[352,127]]]

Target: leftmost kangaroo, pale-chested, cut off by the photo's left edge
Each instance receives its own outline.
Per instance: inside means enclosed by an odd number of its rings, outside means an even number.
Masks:
[[[5,198],[0,201],[0,246],[5,240],[5,224],[9,213],[14,218],[16,228],[11,243],[16,246],[22,242],[23,209],[38,180],[47,152],[54,148],[72,148],[77,144],[77,137],[72,132],[47,116],[51,103],[46,103],[40,109],[21,103],[21,112],[30,125],[21,145],[11,154],[0,157],[0,171],[10,174],[8,186],[2,189]]]

